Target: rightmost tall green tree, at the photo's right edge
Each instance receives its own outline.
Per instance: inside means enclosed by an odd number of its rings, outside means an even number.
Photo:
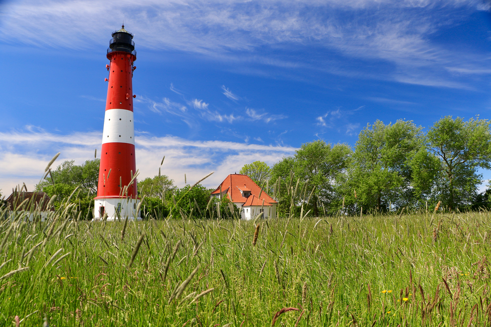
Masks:
[[[436,193],[450,210],[472,202],[482,178],[477,169],[491,168],[490,124],[487,119],[465,122],[445,116],[428,131],[428,149],[441,163]]]

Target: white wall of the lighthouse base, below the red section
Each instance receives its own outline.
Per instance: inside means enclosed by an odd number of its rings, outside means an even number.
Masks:
[[[94,201],[95,221],[101,220],[101,206],[104,206],[104,211],[108,215],[108,221],[117,221],[116,210],[118,204],[121,203],[121,210],[119,215],[121,220],[125,220],[128,217],[129,220],[141,220],[140,211],[136,212],[138,203],[140,200],[131,198],[109,198],[109,199],[96,199]]]

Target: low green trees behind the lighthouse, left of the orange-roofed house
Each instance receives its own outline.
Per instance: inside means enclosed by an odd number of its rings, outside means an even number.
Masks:
[[[82,219],[92,219],[99,165],[100,159],[86,160],[82,165],[75,165],[74,160],[66,160],[50,171],[50,174],[35,186],[35,191],[46,192],[50,198],[56,195],[56,208],[66,199],[70,199],[81,211]],[[215,189],[208,189],[201,184],[194,186],[191,191],[190,185],[178,188],[174,185],[173,179],[161,175],[160,172],[153,178],[147,177],[138,181],[137,189],[138,196],[143,200],[143,218],[167,218],[169,215],[202,219],[226,218],[232,217],[233,212],[237,210],[228,198],[211,199],[211,193]]]

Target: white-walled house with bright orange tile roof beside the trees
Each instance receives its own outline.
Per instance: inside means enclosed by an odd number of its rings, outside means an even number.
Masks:
[[[272,197],[259,187],[249,176],[243,174],[230,174],[215,191],[212,197],[228,197],[241,209],[241,217],[245,220],[255,219],[263,212],[264,218],[276,217],[276,205]]]

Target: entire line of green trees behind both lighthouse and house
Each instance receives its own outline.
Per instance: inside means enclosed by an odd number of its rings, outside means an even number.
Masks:
[[[354,147],[315,140],[272,167],[256,161],[240,173],[278,201],[280,216],[426,210],[438,201],[442,208],[463,211],[491,207],[491,189],[477,192],[482,179],[478,170],[490,169],[490,161],[490,121],[447,116],[426,133],[412,121],[385,125],[377,120],[361,130]],[[78,166],[65,161],[36,190],[56,194],[61,201],[79,187],[72,201],[89,217],[99,163],[94,159]],[[189,185],[178,188],[160,171],[138,181],[142,215],[216,218],[230,217],[236,209],[227,198],[210,200],[214,189],[198,184],[188,190]]]

